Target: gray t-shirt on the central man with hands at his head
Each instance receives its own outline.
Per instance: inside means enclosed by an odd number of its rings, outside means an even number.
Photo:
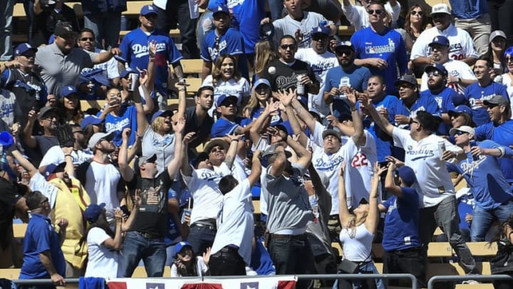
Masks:
[[[269,233],[285,229],[306,228],[309,221],[314,220],[311,212],[308,193],[304,188],[302,176],[305,168],[292,163],[292,175],[272,176],[269,166],[261,174],[261,198],[266,199],[267,228]]]

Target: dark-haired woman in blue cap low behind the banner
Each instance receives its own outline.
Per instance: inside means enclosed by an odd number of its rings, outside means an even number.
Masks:
[[[209,275],[210,248],[202,256],[196,256],[187,241],[177,243],[175,261],[171,265],[171,277]]]

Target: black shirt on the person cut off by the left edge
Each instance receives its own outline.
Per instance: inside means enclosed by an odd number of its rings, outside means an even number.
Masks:
[[[12,231],[16,202],[21,198],[19,186],[0,178],[0,246],[4,249],[11,243],[9,232]]]

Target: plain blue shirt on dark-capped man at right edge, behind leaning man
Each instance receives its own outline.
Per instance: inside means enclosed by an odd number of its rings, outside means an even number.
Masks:
[[[478,126],[475,132],[477,141],[489,139],[502,146],[513,146],[513,120],[511,119],[502,124],[495,124],[490,121]],[[513,159],[500,158],[499,163],[507,181],[513,184]]]

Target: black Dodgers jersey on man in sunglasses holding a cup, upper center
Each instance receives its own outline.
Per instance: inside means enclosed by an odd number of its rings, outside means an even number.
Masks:
[[[274,66],[276,73],[269,73],[269,67],[271,66]],[[311,81],[319,85],[314,70],[311,69],[309,64],[300,60],[296,60],[294,64],[288,66],[279,59],[276,59],[270,64],[267,64],[262,78],[269,80],[272,91],[289,91],[289,88],[292,88],[292,90],[296,89],[297,76],[301,74],[308,75]],[[308,96],[308,92],[308,87],[305,87],[305,96]]]

